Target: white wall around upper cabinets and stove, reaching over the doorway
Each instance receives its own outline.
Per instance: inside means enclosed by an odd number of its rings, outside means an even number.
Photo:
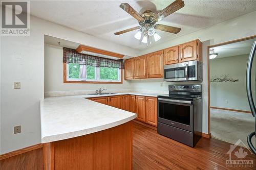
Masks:
[[[178,45],[190,40],[200,39],[203,42],[203,133],[208,133],[208,93],[207,93],[207,46],[214,45],[230,40],[240,39],[252,35],[256,35],[256,11],[249,14],[224,21],[218,25],[211,26],[194,33],[190,33],[176,39],[166,41],[159,45],[151,45],[146,50],[142,51],[140,55],[147,54],[150,52],[158,51],[163,48]],[[150,81],[147,80],[133,80],[131,83],[134,89],[168,89],[168,84],[177,83],[163,83],[160,86],[161,81]],[[182,83],[182,82],[181,82]],[[190,82],[191,84],[198,82]]]

